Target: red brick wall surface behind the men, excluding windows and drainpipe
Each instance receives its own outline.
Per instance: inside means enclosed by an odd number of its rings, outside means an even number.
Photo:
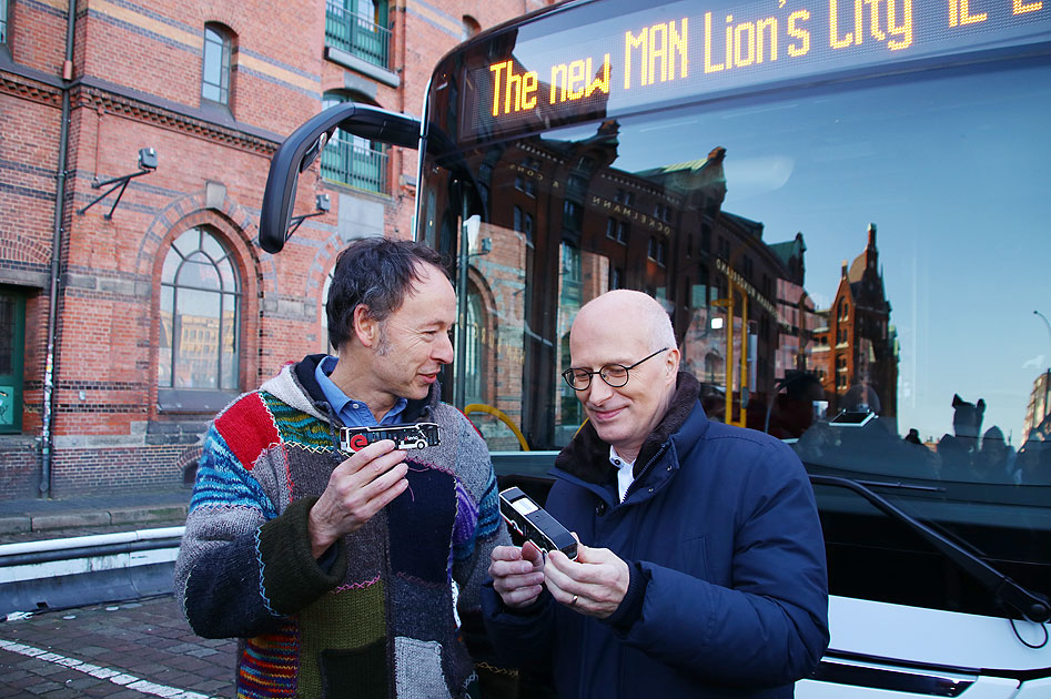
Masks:
[[[346,244],[341,195],[377,204],[387,235],[411,237],[416,153],[392,149],[391,186],[362,193],[320,178],[300,179],[295,213],[329,193],[331,212],[307,220],[280,255],[254,243],[277,142],[321,109],[327,90],[351,80],[374,85],[375,102],[418,115],[437,60],[461,40],[471,14],[482,28],[547,4],[544,0],[391,3],[397,88],[324,59],[325,2],[233,3],[99,0],[78,4],[54,348],[51,494],[179,487],[211,412],[158,407],[160,277],[171,242],[206,225],[233,251],[241,280],[239,387],[249,391],[282,364],[319,350],[325,277]],[[61,8],[61,9],[60,9]],[[0,60],[0,284],[27,302],[22,436],[0,438],[0,498],[37,493],[48,357],[49,271],[55,206],[62,2],[9,0],[9,49]],[[202,104],[205,22],[234,43],[226,113]],[[138,171],[139,149],[159,154],[155,172],[115,193],[100,180]],[[403,176],[404,175],[404,176]],[[209,200],[209,191],[215,201]],[[224,196],[215,196],[224,191]],[[494,357],[505,362],[509,357]]]

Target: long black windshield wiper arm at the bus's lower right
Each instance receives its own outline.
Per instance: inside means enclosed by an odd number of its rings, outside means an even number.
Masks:
[[[1044,624],[1051,620],[1051,606],[1049,606],[1045,597],[1027,590],[971,551],[946,538],[938,531],[934,531],[923,523],[896,507],[887,498],[870,490],[860,483],[838,476],[819,475],[811,475],[810,483],[812,485],[846,488],[860,495],[877,509],[920,535],[940,554],[959,566],[963,571],[971,575],[986,589],[992,592],[998,601],[1010,607],[1030,621]]]

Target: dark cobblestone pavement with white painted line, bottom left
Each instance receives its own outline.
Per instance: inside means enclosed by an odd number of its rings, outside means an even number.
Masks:
[[[0,622],[0,697],[233,697],[235,648],[171,595],[34,614]]]

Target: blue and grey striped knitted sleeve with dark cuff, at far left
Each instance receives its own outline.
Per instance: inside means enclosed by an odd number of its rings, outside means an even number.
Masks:
[[[310,553],[313,498],[280,516],[270,497],[212,426],[198,467],[175,563],[175,594],[205,638],[250,638],[276,630],[342,579],[342,545],[323,570]]]

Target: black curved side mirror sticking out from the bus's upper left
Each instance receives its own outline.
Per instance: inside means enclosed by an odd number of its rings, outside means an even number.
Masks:
[[[284,140],[270,161],[259,221],[259,245],[266,252],[281,252],[289,240],[300,173],[311,166],[336,129],[403,148],[420,145],[420,120],[377,107],[341,102],[312,116]]]

